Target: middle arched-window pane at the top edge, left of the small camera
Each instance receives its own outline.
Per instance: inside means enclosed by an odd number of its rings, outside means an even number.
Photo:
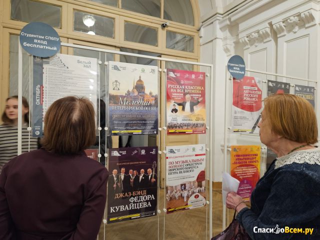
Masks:
[[[149,16],[160,17],[160,0],[121,0],[121,7]]]

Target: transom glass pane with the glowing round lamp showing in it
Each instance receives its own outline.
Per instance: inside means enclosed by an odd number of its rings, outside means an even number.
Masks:
[[[82,11],[73,12],[73,30],[91,35],[114,37],[114,19]]]

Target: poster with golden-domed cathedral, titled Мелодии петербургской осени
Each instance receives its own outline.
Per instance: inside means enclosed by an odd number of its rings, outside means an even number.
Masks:
[[[157,66],[109,61],[111,135],[157,134]]]

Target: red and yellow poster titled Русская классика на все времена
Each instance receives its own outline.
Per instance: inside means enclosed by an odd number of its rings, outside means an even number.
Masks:
[[[166,69],[167,134],[205,133],[205,73]]]

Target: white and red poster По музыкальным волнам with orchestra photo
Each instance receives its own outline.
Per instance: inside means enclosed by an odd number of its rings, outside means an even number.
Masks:
[[[166,213],[205,205],[205,144],[166,147]]]

